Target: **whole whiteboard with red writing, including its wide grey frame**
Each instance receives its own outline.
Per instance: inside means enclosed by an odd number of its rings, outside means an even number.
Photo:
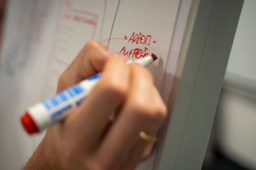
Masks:
[[[1,169],[18,169],[29,159],[44,133],[27,136],[20,115],[55,94],[61,72],[90,39],[127,59],[152,52],[160,58],[148,69],[172,108],[159,145],[138,169],[200,169],[242,5],[242,0],[8,1],[0,66]],[[139,36],[144,41],[136,41]]]

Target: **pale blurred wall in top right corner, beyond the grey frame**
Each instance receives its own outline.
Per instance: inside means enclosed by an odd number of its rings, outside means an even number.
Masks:
[[[256,1],[245,0],[227,72],[256,80]]]

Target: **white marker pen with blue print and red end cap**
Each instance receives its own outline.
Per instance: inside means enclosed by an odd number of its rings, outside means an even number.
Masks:
[[[127,60],[127,64],[136,62],[142,66],[147,66],[156,60],[157,57],[152,53],[138,60]],[[67,110],[74,106],[79,106],[82,101],[88,96],[94,85],[99,81],[102,73],[98,73],[91,78],[77,83],[56,96],[53,96],[41,103],[35,104],[20,117],[20,121],[28,134],[40,132],[52,124],[63,120],[67,117]]]

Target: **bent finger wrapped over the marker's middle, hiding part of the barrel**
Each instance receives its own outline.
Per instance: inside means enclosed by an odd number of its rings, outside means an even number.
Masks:
[[[69,128],[79,132],[81,143],[86,140],[86,144],[92,146],[99,142],[102,132],[108,126],[111,113],[124,100],[128,84],[129,68],[124,60],[109,59],[99,83],[77,111],[68,117]]]

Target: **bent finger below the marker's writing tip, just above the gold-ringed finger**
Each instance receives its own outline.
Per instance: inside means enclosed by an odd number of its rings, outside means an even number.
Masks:
[[[99,157],[107,158],[104,163],[108,166],[118,166],[120,160],[125,160],[122,156],[129,156],[129,150],[140,140],[140,131],[145,131],[148,126],[149,129],[156,129],[164,117],[163,108],[153,104],[155,99],[151,74],[138,64],[130,64],[130,69],[129,96],[99,148]]]

